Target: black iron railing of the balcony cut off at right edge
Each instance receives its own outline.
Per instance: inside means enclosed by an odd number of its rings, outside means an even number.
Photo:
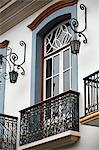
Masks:
[[[99,71],[84,78],[85,116],[99,110]]]

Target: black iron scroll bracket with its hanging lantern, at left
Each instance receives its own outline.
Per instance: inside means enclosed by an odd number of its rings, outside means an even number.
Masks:
[[[11,83],[16,83],[18,78],[18,70],[21,69],[21,75],[25,75],[25,70],[23,64],[25,63],[26,58],[26,43],[20,41],[20,46],[24,49],[23,61],[18,64],[18,55],[12,52],[10,47],[7,48],[7,55],[0,54],[0,78],[10,79]],[[8,64],[9,71],[5,70],[6,63]]]

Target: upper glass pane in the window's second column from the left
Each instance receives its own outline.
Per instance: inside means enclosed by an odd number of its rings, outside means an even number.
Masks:
[[[53,57],[53,74],[59,73],[59,55]]]

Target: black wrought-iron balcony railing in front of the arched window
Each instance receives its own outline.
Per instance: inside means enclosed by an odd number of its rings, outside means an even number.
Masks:
[[[20,145],[79,131],[79,93],[67,91],[20,111]]]

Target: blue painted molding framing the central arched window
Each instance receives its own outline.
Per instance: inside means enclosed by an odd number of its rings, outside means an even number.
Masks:
[[[31,96],[30,105],[40,102],[41,96],[41,63],[42,63],[42,44],[45,34],[53,28],[54,25],[68,18],[77,18],[77,5],[59,9],[45,18],[35,30],[32,31],[32,69],[31,69]],[[73,33],[72,33],[73,34]],[[72,89],[77,89],[77,56],[72,55]]]

